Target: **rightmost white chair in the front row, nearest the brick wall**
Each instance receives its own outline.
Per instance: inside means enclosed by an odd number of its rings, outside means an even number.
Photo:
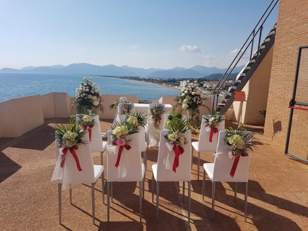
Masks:
[[[247,131],[251,133],[251,131]],[[204,200],[204,187],[205,187],[205,173],[211,182],[213,182],[212,188],[212,219],[214,219],[214,206],[215,206],[215,182],[236,182],[234,201],[236,201],[237,194],[237,182],[245,182],[245,221],[247,213],[247,191],[248,191],[248,173],[249,173],[249,162],[251,159],[252,151],[247,150],[248,156],[240,157],[239,163],[237,165],[234,177],[230,177],[230,170],[233,166],[234,159],[230,159],[228,152],[230,149],[224,143],[225,132],[219,132],[219,140],[215,155],[214,163],[203,164],[203,185],[202,185],[202,198]],[[251,141],[250,141],[251,142]]]

